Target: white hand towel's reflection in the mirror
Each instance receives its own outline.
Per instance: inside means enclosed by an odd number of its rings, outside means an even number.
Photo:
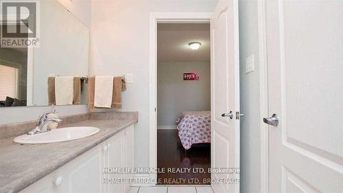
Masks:
[[[56,105],[73,104],[73,87],[74,86],[72,76],[56,76]]]

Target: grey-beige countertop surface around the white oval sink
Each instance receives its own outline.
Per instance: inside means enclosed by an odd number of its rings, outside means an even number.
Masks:
[[[14,144],[13,137],[0,140],[0,192],[23,190],[136,122],[137,119],[84,120],[66,124],[63,127],[95,126],[100,131],[82,139],[51,144],[19,145]]]

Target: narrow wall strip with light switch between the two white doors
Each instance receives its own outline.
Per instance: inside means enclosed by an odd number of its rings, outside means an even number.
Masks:
[[[257,1],[239,1],[239,61],[241,113],[241,192],[260,191],[259,37]],[[245,60],[254,54],[255,71],[245,72]]]

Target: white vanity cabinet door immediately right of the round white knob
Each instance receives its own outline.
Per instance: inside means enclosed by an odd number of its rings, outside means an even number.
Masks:
[[[67,163],[58,170],[59,177],[62,177],[58,192],[103,192],[103,163],[101,146],[96,146]]]

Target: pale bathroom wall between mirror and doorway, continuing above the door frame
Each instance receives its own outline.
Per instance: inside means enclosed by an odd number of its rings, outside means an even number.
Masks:
[[[212,12],[216,0],[93,0],[91,74],[132,72],[134,83],[123,93],[123,111],[139,111],[135,163],[149,166],[149,25],[150,12]]]

